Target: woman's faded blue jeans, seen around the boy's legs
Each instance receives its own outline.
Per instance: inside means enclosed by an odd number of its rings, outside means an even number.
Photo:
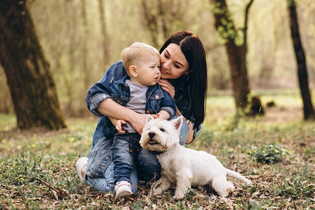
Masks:
[[[173,119],[177,117],[178,116],[175,115]],[[185,145],[188,131],[189,131],[188,125],[185,122],[183,122],[181,131],[180,131],[180,144],[181,145]],[[114,192],[114,187],[115,187],[114,162],[112,161],[112,157],[109,151],[112,144],[113,144],[112,139],[106,139],[104,136],[100,137],[95,143],[95,145],[91,148],[91,151],[89,154],[86,181],[87,181],[87,184],[89,184],[90,186],[94,187],[95,189],[101,192]],[[152,163],[154,162],[154,160],[156,160],[155,155],[147,151],[144,154],[141,154],[141,158],[142,158],[142,161],[141,161],[142,169],[144,171],[151,171],[151,169],[146,169],[146,168],[150,168],[152,166]],[[154,168],[155,166],[152,166],[152,167]],[[130,181],[131,181],[131,187],[132,187],[131,190],[133,193],[135,193],[137,191],[137,184],[138,184],[137,169],[135,166],[133,167],[133,170],[130,174]]]

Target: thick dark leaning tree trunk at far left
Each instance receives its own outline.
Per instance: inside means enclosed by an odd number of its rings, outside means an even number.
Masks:
[[[18,127],[65,127],[49,63],[25,0],[0,1],[0,61],[7,76]]]

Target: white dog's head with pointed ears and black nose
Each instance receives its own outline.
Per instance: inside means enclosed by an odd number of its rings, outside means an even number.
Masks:
[[[183,117],[171,121],[154,119],[148,115],[142,129],[140,145],[151,151],[166,151],[172,145],[179,143],[179,134],[182,127]]]

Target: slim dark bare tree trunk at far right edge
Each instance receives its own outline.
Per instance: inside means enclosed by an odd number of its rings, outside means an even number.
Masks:
[[[288,10],[290,16],[290,29],[291,36],[295,51],[295,58],[297,62],[297,75],[298,82],[300,86],[301,96],[303,99],[303,112],[304,119],[309,120],[315,119],[315,112],[313,105],[311,103],[311,96],[308,88],[308,78],[307,78],[307,69],[306,69],[306,58],[302,46],[302,42],[300,39],[300,34],[298,31],[298,21],[296,14],[296,4],[294,0],[287,0]]]

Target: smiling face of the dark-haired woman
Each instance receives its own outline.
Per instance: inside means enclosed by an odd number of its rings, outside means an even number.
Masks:
[[[161,78],[177,79],[188,72],[188,61],[177,44],[169,44],[161,53]]]

